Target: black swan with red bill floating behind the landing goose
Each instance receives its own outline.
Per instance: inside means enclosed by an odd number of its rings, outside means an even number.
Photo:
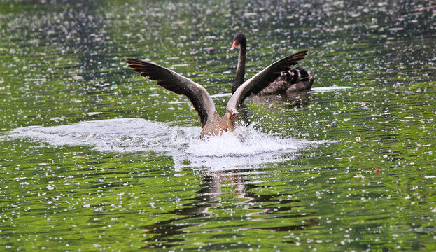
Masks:
[[[239,51],[238,67],[232,85],[232,94],[236,92],[237,88],[242,83],[244,83],[247,48],[247,39],[244,34],[239,33],[234,36],[232,48],[230,48],[230,50],[236,48],[237,45],[240,45],[241,50]],[[259,92],[258,95],[283,94],[286,92],[309,90],[314,83],[315,77],[316,76],[310,76],[309,73],[301,67],[288,69],[283,71],[274,82]]]

